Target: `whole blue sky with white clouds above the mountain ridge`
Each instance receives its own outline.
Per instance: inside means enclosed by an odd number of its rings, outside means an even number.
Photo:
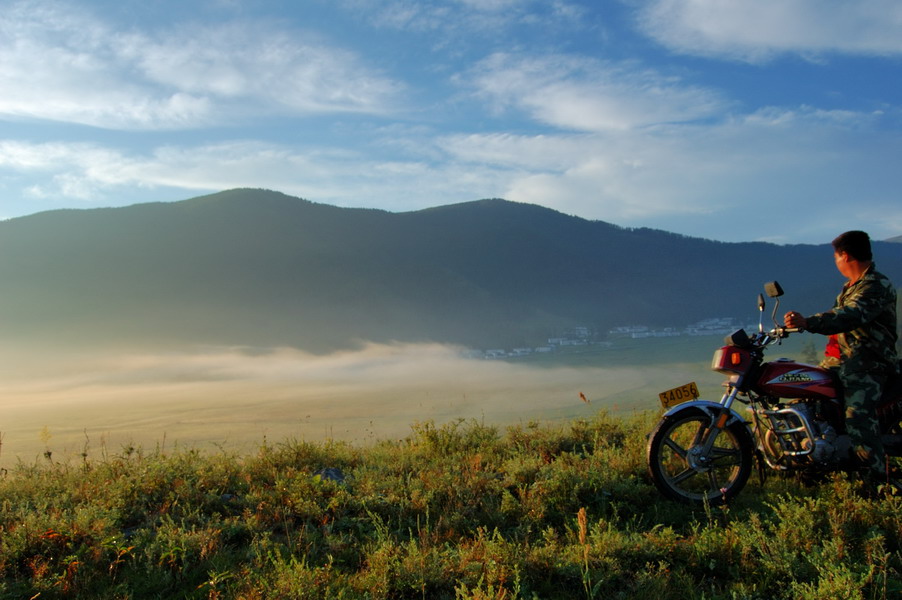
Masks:
[[[235,187],[902,235],[902,2],[0,0],[0,218]]]

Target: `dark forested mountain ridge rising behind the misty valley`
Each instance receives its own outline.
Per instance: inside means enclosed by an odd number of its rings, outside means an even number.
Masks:
[[[902,281],[902,246],[878,244]],[[482,200],[389,213],[231,190],[0,223],[0,335],[120,344],[540,343],[576,325],[754,318],[840,283],[826,246],[719,243]]]

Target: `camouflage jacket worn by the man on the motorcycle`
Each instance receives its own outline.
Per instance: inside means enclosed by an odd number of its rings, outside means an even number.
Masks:
[[[896,370],[896,290],[873,263],[860,279],[843,286],[831,310],[807,321],[812,333],[838,334],[841,371]]]

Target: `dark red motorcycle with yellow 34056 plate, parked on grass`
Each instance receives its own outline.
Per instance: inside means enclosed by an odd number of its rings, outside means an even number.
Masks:
[[[800,329],[777,323],[783,289],[765,284],[776,299],[764,330],[764,296],[758,295],[758,332],[739,329],[714,353],[711,368],[727,376],[719,402],[699,399],[689,383],[660,394],[667,412],[648,437],[648,472],[666,497],[717,506],[739,494],[757,461],[767,469],[817,477],[849,467],[841,387],[830,370],[788,358],[765,361],[765,350]],[[734,410],[747,404],[748,417]],[[890,380],[877,408],[887,456],[902,456],[902,376]]]

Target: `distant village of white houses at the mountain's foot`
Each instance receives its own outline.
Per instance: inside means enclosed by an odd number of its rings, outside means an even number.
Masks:
[[[556,352],[561,348],[572,348],[574,346],[610,347],[613,346],[617,340],[624,339],[638,340],[646,338],[678,337],[682,335],[727,335],[739,328],[744,328],[746,331],[756,331],[758,325],[757,323],[744,325],[732,317],[720,317],[715,319],[704,319],[683,328],[665,327],[662,329],[654,329],[645,325],[623,325],[611,329],[603,336],[598,335],[597,331],[589,327],[573,327],[572,329],[565,331],[560,337],[548,338],[548,343],[542,346],[469,350],[467,355],[471,358],[485,359],[511,358],[529,356],[531,354],[547,354]]]

